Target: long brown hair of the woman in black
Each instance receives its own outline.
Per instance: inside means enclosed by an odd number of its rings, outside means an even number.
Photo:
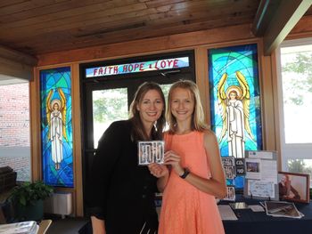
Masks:
[[[155,90],[158,93],[160,93],[160,97],[163,102],[164,109],[161,112],[160,118],[156,121],[155,125],[152,127],[151,136],[148,136],[147,133],[145,133],[144,131],[144,125],[140,117],[140,111],[136,109],[136,106],[140,104],[141,101],[143,101],[144,95],[150,90]],[[140,85],[135,92],[135,98],[131,102],[130,109],[129,109],[129,117],[133,123],[133,129],[132,129],[132,135],[131,135],[132,140],[133,141],[161,140],[164,125],[166,123],[165,109],[166,109],[165,96],[162,93],[160,85],[154,82],[144,82],[142,85]]]

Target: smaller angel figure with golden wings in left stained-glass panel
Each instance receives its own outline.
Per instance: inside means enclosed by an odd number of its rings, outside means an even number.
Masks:
[[[49,140],[51,141],[51,155],[55,169],[59,170],[62,162],[62,144],[63,139],[67,141],[66,136],[66,98],[62,88],[57,92],[61,99],[52,99],[53,89],[50,90],[46,98],[46,118],[49,125]]]

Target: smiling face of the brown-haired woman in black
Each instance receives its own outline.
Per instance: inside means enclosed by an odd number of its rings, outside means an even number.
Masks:
[[[140,113],[143,124],[152,126],[161,116],[164,102],[160,93],[152,89],[145,93],[143,99],[136,105],[136,109]]]

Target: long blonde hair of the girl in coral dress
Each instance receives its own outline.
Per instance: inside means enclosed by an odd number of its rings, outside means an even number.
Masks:
[[[176,133],[177,132],[177,119],[172,115],[171,112],[171,96],[175,89],[182,88],[185,90],[189,90],[194,98],[194,111],[192,114],[192,122],[191,122],[191,129],[203,132],[208,130],[208,125],[205,124],[205,115],[203,113],[202,105],[201,105],[201,97],[200,91],[198,87],[193,81],[191,80],[179,80],[175,82],[169,90],[168,93],[168,106],[166,111],[166,119],[169,126],[169,133]]]

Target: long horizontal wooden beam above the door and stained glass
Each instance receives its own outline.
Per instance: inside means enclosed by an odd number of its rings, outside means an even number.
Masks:
[[[216,44],[233,40],[254,38],[250,33],[250,25],[238,25],[228,28],[190,32],[172,36],[160,36],[150,39],[136,40],[126,43],[108,44],[66,52],[53,52],[38,55],[38,66],[57,64],[69,61],[92,61],[125,57],[134,54],[183,50],[195,45]]]

